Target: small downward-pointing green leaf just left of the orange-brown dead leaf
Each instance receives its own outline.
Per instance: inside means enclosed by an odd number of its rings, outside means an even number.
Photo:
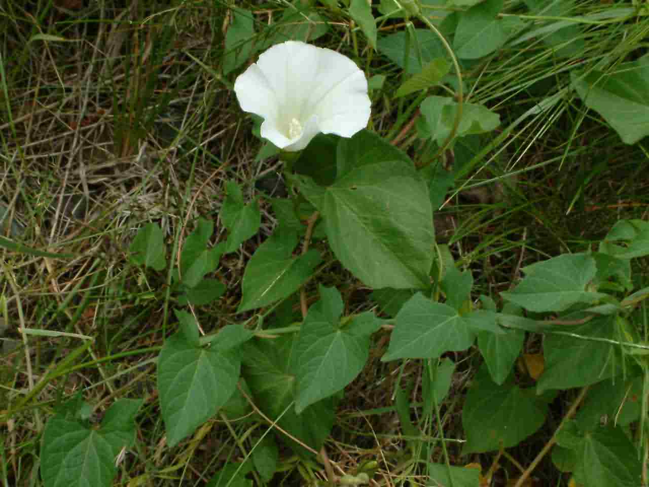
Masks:
[[[509,377],[524,341],[525,333],[520,330],[507,330],[502,334],[478,332],[478,349],[496,384],[502,384]]]

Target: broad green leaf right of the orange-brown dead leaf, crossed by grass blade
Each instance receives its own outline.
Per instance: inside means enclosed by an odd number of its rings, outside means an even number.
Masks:
[[[589,338],[613,340],[617,316],[600,316],[570,327],[569,336],[550,333],[545,337],[545,371],[537,382],[539,393],[548,389],[582,387],[621,373],[620,347]]]

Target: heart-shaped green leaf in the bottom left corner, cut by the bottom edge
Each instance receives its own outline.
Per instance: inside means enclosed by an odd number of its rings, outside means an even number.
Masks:
[[[140,400],[120,399],[104,416],[99,430],[79,419],[56,414],[47,421],[41,448],[45,487],[108,487],[123,447],[135,441],[135,416]]]

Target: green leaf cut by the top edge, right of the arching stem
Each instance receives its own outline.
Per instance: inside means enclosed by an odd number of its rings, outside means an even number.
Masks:
[[[498,18],[503,0],[486,0],[461,12],[453,48],[463,59],[477,59],[505,44],[508,31]]]

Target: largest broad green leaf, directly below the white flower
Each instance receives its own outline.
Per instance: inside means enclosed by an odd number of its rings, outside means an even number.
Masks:
[[[428,188],[397,160],[351,169],[326,188],[300,178],[342,264],[373,288],[426,288],[434,229]]]

